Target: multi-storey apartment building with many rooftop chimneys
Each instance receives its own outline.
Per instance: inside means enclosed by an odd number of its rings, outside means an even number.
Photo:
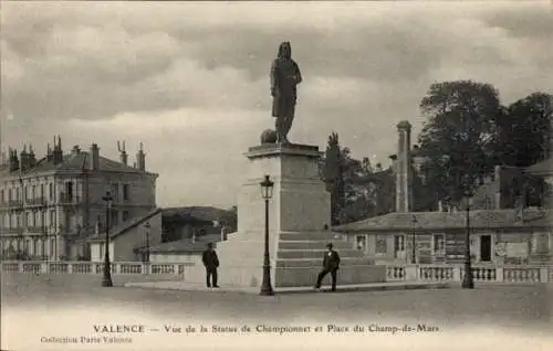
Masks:
[[[0,166],[1,253],[9,259],[79,259],[87,255],[86,237],[106,223],[107,191],[113,198],[109,226],[156,208],[158,174],[146,171],[140,143],[134,167],[125,146],[119,160],[79,146],[64,153],[61,138],[38,159],[32,148],[10,149]]]

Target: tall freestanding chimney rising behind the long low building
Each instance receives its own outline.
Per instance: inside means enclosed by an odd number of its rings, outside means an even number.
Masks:
[[[411,125],[401,120],[397,125],[396,212],[410,212],[413,202]]]

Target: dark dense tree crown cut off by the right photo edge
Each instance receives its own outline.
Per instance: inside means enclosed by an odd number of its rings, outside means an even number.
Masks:
[[[528,167],[549,157],[552,96],[533,93],[503,108],[497,120],[498,163]]]

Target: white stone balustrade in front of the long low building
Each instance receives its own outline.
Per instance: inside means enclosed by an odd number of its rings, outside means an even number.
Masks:
[[[472,266],[474,283],[553,283],[553,266]],[[461,281],[463,265],[401,265],[386,266],[387,281]]]

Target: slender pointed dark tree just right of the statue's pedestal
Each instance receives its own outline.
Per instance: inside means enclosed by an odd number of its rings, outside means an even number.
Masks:
[[[332,132],[323,163],[323,180],[326,190],[331,193],[331,225],[340,224],[342,209],[344,208],[344,163],[340,148],[338,135]]]

